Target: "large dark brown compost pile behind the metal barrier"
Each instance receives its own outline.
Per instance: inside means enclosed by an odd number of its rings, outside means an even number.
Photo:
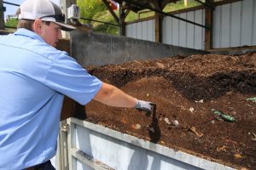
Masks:
[[[146,116],[91,101],[87,121],[224,165],[256,167],[256,54],[192,55],[92,66],[90,74],[154,102]]]

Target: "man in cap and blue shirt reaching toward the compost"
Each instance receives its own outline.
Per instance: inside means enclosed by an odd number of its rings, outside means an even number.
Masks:
[[[26,0],[18,30],[0,37],[0,169],[55,169],[63,95],[85,105],[106,105],[151,112],[151,103],[135,99],[90,76],[67,53],[54,47],[64,15],[49,0]]]

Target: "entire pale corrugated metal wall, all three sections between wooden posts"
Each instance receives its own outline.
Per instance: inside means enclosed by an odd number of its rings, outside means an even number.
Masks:
[[[187,11],[176,16],[205,25],[205,9]],[[213,11],[212,48],[235,48],[256,45],[256,1],[243,0],[218,5]],[[204,49],[205,29],[166,16],[162,22],[163,43]],[[154,20],[126,26],[126,37],[154,41]]]

